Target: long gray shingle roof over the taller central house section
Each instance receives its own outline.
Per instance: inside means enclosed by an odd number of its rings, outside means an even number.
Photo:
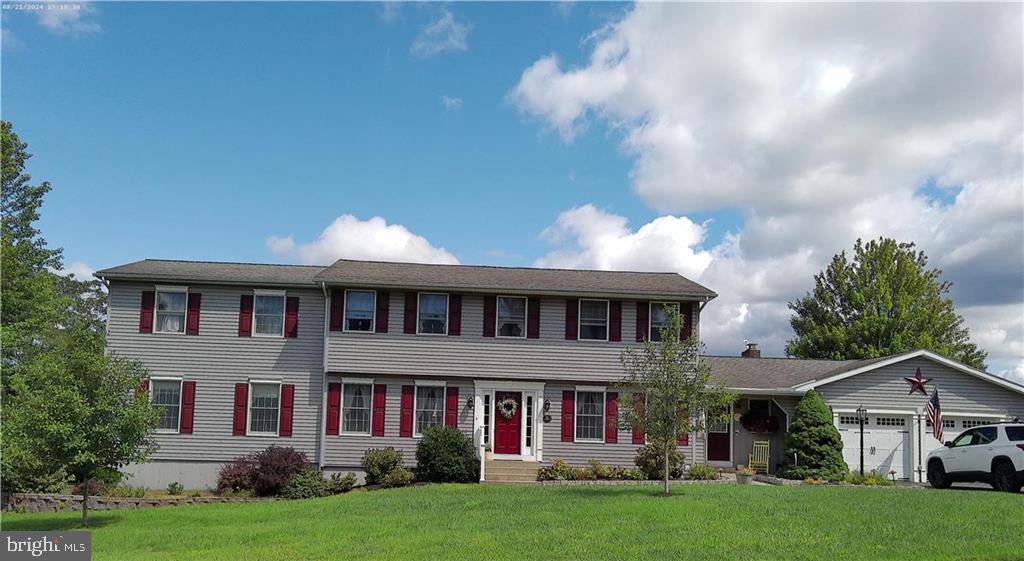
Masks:
[[[427,265],[339,259],[317,280],[355,286],[508,291],[514,293],[643,295],[711,299],[715,292],[675,272]]]

